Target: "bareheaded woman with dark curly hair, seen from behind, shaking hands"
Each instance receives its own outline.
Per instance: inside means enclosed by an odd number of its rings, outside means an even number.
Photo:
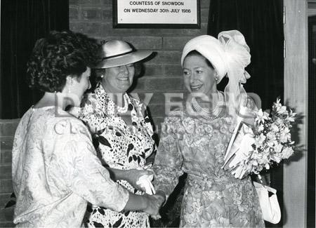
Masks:
[[[90,88],[98,43],[82,34],[51,32],[35,44],[29,86],[44,92],[19,123],[12,155],[17,227],[80,227],[87,202],[158,216],[159,196],[138,196],[113,182],[88,129],[65,112]]]

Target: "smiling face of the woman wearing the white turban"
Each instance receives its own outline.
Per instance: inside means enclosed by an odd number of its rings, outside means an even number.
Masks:
[[[216,93],[216,71],[206,63],[202,55],[187,55],[183,62],[183,77],[190,93],[203,93],[211,98]]]

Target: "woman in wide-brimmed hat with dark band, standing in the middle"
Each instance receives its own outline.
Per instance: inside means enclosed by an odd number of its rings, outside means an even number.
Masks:
[[[145,170],[146,159],[155,150],[152,125],[145,106],[126,93],[133,83],[134,63],[147,58],[151,51],[136,51],[121,40],[102,46],[98,83],[88,94],[79,118],[87,123],[95,147],[112,178],[129,192],[143,194],[136,182]],[[109,208],[88,207],[88,227],[150,227],[147,213],[115,212]]]

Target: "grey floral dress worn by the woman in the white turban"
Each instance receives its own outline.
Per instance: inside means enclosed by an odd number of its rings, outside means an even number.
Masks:
[[[221,168],[235,127],[221,109],[213,120],[182,111],[165,119],[154,161],[154,187],[168,196],[178,177],[187,173],[180,227],[264,227],[250,177],[235,179]]]

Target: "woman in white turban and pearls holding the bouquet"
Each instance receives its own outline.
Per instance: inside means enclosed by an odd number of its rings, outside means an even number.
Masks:
[[[180,227],[264,227],[250,177],[239,180],[222,169],[239,108],[255,109],[242,87],[249,63],[249,46],[237,30],[220,32],[218,39],[197,36],[183,48],[190,96],[185,109],[165,119],[153,166],[154,187],[162,196],[187,173]],[[217,84],[224,76],[229,81],[221,92]]]

